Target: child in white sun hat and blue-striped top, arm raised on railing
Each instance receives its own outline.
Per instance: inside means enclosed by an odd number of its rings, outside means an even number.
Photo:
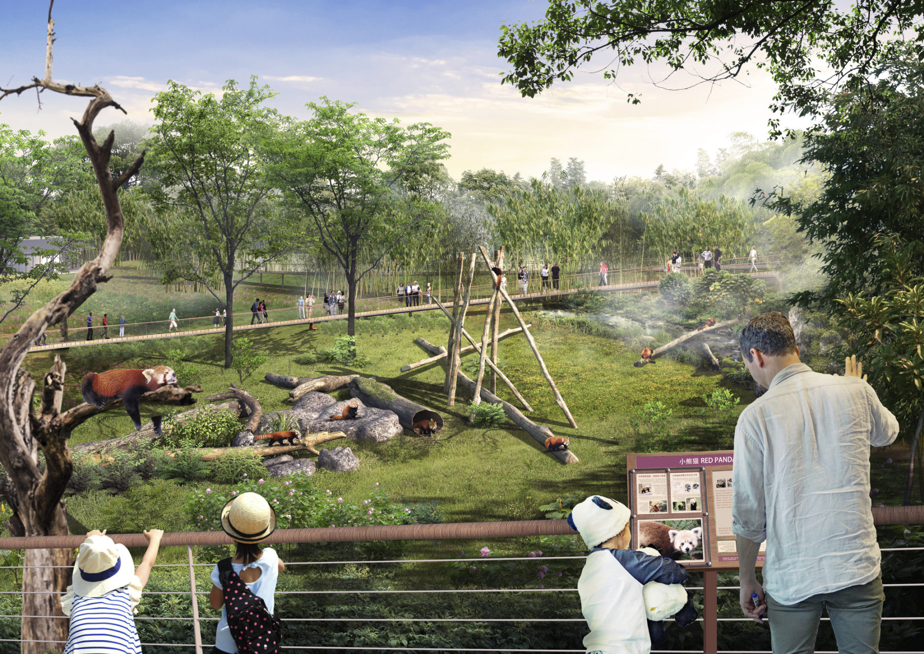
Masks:
[[[60,599],[61,611],[70,617],[65,654],[141,654],[133,615],[163,536],[160,529],[144,532],[148,549],[136,570],[128,548],[106,536],[105,529],[87,532],[74,563],[73,583]]]

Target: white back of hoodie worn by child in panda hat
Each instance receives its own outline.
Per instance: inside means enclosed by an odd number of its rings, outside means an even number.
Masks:
[[[591,551],[577,582],[581,612],[590,627],[587,651],[650,654],[642,585],[610,550]]]

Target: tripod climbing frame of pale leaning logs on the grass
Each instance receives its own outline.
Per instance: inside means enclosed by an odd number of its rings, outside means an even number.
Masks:
[[[447,407],[454,406],[456,404],[456,389],[458,384],[461,382],[462,385],[471,392],[472,402],[474,404],[478,405],[480,404],[481,400],[484,400],[492,404],[499,404],[503,406],[507,418],[510,418],[513,423],[527,431],[533,438],[541,442],[544,446],[546,439],[553,436],[552,430],[550,430],[548,427],[545,427],[544,425],[537,425],[535,422],[523,415],[523,413],[516,406],[505,402],[504,400],[497,397],[497,395],[495,395],[497,392],[497,380],[500,379],[501,382],[503,382],[507,388],[510,389],[510,392],[517,398],[517,402],[519,402],[520,405],[522,405],[523,408],[527,411],[532,411],[532,407],[529,406],[529,403],[526,401],[523,395],[517,391],[517,387],[514,386],[514,383],[511,382],[507,376],[497,368],[497,346],[499,341],[506,335],[522,332],[523,335],[526,336],[529,347],[532,349],[533,354],[536,356],[536,360],[539,362],[539,367],[542,370],[542,374],[545,376],[546,381],[549,382],[549,385],[552,387],[552,392],[555,396],[555,402],[558,404],[558,406],[561,407],[562,412],[565,414],[565,418],[567,418],[571,427],[577,428],[577,422],[575,422],[574,417],[568,410],[568,407],[565,404],[565,400],[562,398],[562,394],[559,393],[558,387],[555,385],[555,382],[552,379],[552,375],[549,374],[549,369],[545,366],[545,361],[542,360],[539,347],[536,345],[536,341],[533,339],[532,334],[529,333],[529,325],[526,323],[526,321],[523,320],[522,315],[520,315],[520,312],[517,309],[517,305],[507,294],[506,289],[501,285],[501,271],[504,267],[504,248],[495,250],[493,262],[488,259],[488,254],[485,252],[484,248],[480,248],[480,253],[481,258],[484,260],[485,265],[488,267],[488,270],[491,271],[492,279],[494,280],[494,292],[488,303],[488,308],[485,311],[484,325],[481,329],[480,344],[477,343],[475,339],[472,338],[471,334],[468,333],[465,329],[465,319],[466,314],[468,313],[469,303],[471,302],[471,284],[472,279],[475,276],[475,263],[478,259],[478,253],[473,252],[470,258],[467,258],[464,252],[460,252],[459,271],[456,279],[455,297],[452,311],[446,309],[443,303],[441,303],[436,297],[433,298],[433,301],[436,302],[436,305],[443,310],[446,318],[449,319],[449,341],[447,346],[437,347],[436,345],[432,345],[422,338],[418,338],[415,342],[430,352],[433,356],[416,363],[408,364],[401,370],[406,371],[415,369],[429,363],[445,360],[446,379],[444,382],[444,390],[447,393]],[[467,259],[468,274],[466,274]],[[513,314],[516,316],[520,326],[518,329],[507,330],[504,333],[500,333],[501,303],[504,300],[513,311]],[[463,340],[467,340],[470,345],[463,348]],[[468,376],[461,370],[461,353],[467,350],[470,351],[472,349],[479,353],[478,375],[475,380],[469,379]],[[489,388],[484,387],[484,373],[486,367],[491,369],[489,382],[490,390]],[[577,456],[570,450],[551,452],[550,454],[553,454],[562,463],[577,463]]]

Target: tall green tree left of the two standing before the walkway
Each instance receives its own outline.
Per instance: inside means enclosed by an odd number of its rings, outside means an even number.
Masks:
[[[268,86],[250,78],[247,89],[228,80],[222,97],[202,95],[170,80],[154,96],[157,123],[147,141],[148,161],[159,184],[146,191],[161,210],[157,258],[167,259],[167,277],[203,285],[228,309],[225,369],[231,368],[234,294],[261,265],[288,250],[289,236],[269,199],[261,142],[279,124],[264,103]],[[173,256],[177,251],[185,256]],[[238,266],[243,273],[235,279]],[[215,292],[221,280],[225,297]]]

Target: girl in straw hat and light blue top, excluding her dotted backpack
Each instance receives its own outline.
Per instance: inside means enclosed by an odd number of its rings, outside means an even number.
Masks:
[[[222,528],[234,539],[237,551],[231,566],[250,592],[261,598],[266,610],[274,612],[276,580],[286,565],[273,548],[261,550],[261,540],[269,538],[276,528],[276,514],[263,497],[255,492],[244,492],[225,504],[221,514]],[[222,618],[215,632],[212,654],[234,654],[237,644],[228,626],[221,573],[216,564],[212,571],[212,592],[209,601],[215,611],[222,610]]]

